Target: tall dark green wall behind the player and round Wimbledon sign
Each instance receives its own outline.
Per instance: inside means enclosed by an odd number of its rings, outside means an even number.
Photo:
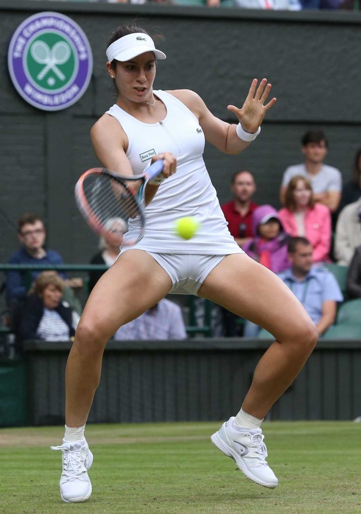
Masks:
[[[36,11],[63,12],[85,31],[94,71],[83,98],[58,113],[38,111],[16,93],[7,71],[7,48],[17,26]],[[361,15],[353,12],[264,12],[172,6],[137,6],[17,0],[0,2],[0,207],[16,221],[24,211],[46,220],[48,244],[67,262],[88,262],[96,237],[77,213],[73,186],[96,164],[89,130],[113,103],[105,72],[106,40],[137,14],[165,35],[159,45],[155,87],[190,88],[218,117],[235,121],[230,103],[241,105],[253,77],[273,84],[276,106],[262,134],[239,156],[207,147],[205,159],[220,201],[228,198],[229,177],[251,170],[256,200],[278,206],[285,168],[302,160],[299,139],[312,125],[330,140],[327,162],[347,179],[361,146]],[[1,215],[0,215],[1,217]],[[0,261],[17,246],[16,234],[1,218]]]

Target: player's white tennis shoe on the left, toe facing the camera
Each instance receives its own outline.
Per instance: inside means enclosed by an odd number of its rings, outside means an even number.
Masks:
[[[62,450],[63,469],[60,477],[60,495],[63,502],[84,502],[91,494],[88,469],[93,463],[93,454],[85,439],[61,446],[51,446],[51,450]]]

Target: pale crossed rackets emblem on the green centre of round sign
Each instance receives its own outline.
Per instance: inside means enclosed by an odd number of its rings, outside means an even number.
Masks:
[[[64,73],[57,67],[59,64],[65,64],[71,54],[70,47],[65,41],[58,41],[52,48],[44,41],[35,41],[30,52],[35,62],[44,64],[44,68],[36,77],[37,80],[43,80],[50,70],[58,79],[65,80]]]

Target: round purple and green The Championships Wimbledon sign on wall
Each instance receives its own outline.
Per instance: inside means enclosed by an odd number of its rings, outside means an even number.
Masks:
[[[40,12],[27,18],[11,38],[11,80],[28,103],[60,111],[87,90],[93,58],[87,36],[64,14]]]

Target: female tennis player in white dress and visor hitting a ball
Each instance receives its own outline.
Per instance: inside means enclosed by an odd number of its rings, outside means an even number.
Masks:
[[[271,84],[254,79],[243,107],[228,106],[238,122],[229,124],[214,117],[193,91],[153,90],[157,61],[166,56],[144,29],[116,29],[107,58],[117,100],[92,127],[95,154],[104,167],[129,176],[162,158],[163,181],[148,183],[145,235],[135,246],[123,247],[98,281],[76,331],[66,370],[65,436],[53,447],[63,454],[61,497],[80,502],[91,494],[93,455],[84,429],[107,341],[170,292],[207,298],[274,335],[242,408],[212,435],[249,479],[273,488],[277,478],[266,462],[260,424],[302,369],[317,333],[288,287],[234,242],[203,161],[205,139],[227,154],[242,152],[255,139],[276,102],[266,103]],[[176,219],[184,216],[200,223],[189,241],[173,232]],[[125,239],[136,230],[135,219]]]

